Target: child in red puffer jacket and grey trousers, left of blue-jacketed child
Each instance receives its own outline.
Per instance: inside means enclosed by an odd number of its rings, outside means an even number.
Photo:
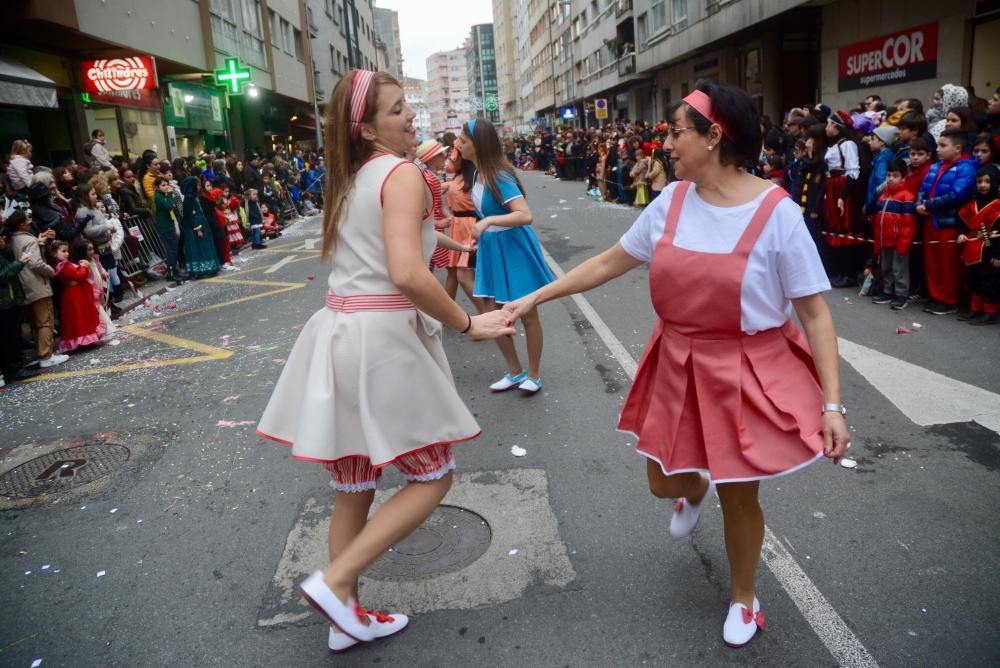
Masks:
[[[904,181],[906,162],[895,159],[885,173],[885,189],[875,204],[875,253],[880,254],[882,289],[872,297],[875,304],[890,304],[895,311],[906,308],[910,292],[910,248],[917,233],[914,213],[915,190]]]

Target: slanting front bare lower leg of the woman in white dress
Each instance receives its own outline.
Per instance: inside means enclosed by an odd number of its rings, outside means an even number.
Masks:
[[[451,487],[452,474],[430,482],[411,482],[375,511],[354,540],[323,572],[327,586],[346,601],[364,570],[379,555],[413,533],[430,517]]]

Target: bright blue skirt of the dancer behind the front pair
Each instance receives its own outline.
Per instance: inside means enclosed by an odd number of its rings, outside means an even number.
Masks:
[[[555,280],[530,225],[483,232],[476,253],[476,297],[506,304]]]

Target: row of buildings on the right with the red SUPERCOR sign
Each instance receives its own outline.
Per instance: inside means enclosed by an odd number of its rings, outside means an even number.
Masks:
[[[905,11],[887,0],[494,5],[501,22],[509,12],[514,31],[527,36],[513,65],[522,86],[528,82],[520,109],[512,110],[521,112],[522,124],[661,120],[699,79],[743,88],[773,119],[819,101],[853,107],[871,93],[890,103],[909,96],[930,102],[945,83],[972,85],[989,97],[1000,84],[997,0],[914,0]],[[501,96],[516,86],[505,76],[509,60],[498,64]],[[597,101],[605,119],[596,117]]]

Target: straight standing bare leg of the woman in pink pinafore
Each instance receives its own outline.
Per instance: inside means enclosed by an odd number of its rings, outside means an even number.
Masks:
[[[757,563],[764,544],[764,512],[757,501],[759,487],[757,481],[725,483],[717,487],[729,557],[730,596],[734,603],[742,603],[751,610]]]

